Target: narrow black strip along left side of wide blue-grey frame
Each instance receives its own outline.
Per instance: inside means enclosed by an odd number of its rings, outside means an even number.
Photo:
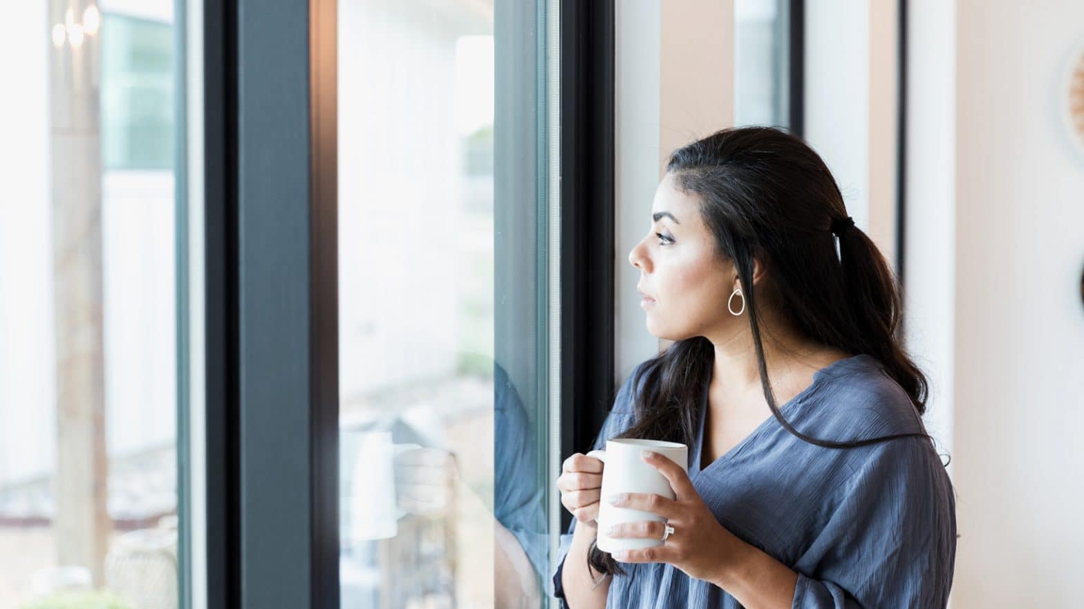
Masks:
[[[204,409],[208,609],[241,607],[237,468],[236,0],[205,2]]]

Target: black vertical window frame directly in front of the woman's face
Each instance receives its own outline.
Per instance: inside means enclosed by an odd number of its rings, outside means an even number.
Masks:
[[[588,450],[614,398],[614,18],[612,0],[560,3],[563,459]]]

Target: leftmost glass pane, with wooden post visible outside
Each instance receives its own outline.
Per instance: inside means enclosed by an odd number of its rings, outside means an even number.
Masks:
[[[179,604],[173,11],[5,5],[0,607]]]

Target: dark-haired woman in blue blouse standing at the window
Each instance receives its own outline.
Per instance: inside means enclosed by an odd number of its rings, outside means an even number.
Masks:
[[[952,484],[926,435],[926,379],[896,335],[900,295],[823,160],[771,128],[676,151],[630,252],[647,329],[675,342],[622,385],[614,437],[689,446],[688,474],[645,456],[675,501],[617,497],[668,521],[594,546],[602,462],[558,479],[576,515],[555,593],[591,607],[944,607]]]

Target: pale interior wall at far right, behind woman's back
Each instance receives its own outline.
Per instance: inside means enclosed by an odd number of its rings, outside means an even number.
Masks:
[[[950,375],[940,403],[952,404],[962,535],[953,605],[1077,607],[1084,158],[1059,104],[1084,3],[913,10],[939,48],[911,46],[907,275],[929,275],[909,300],[914,344]]]

